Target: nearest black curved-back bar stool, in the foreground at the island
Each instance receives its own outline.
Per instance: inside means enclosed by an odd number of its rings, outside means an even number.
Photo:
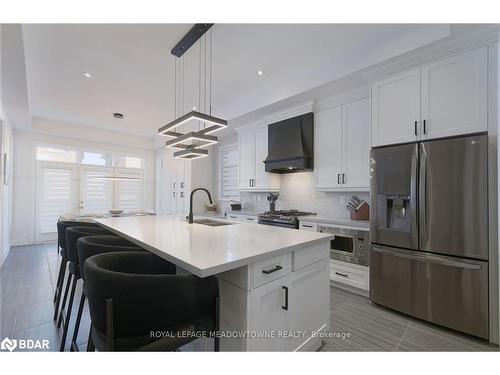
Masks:
[[[91,339],[99,351],[174,350],[219,330],[213,276],[176,275],[171,263],[147,252],[95,255],[84,268]],[[169,334],[158,340],[152,332]]]

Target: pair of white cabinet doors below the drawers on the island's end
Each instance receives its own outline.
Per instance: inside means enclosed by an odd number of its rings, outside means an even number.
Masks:
[[[328,259],[252,291],[251,351],[315,350],[329,329]]]

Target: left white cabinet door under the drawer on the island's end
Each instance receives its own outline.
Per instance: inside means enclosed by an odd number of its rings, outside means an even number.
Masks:
[[[280,332],[288,330],[286,325],[288,311],[283,309],[286,307],[286,288],[289,291],[285,276],[253,290],[250,329],[262,336],[249,339],[250,350],[263,352],[287,350],[286,340],[278,336]],[[274,337],[270,337],[271,334]]]

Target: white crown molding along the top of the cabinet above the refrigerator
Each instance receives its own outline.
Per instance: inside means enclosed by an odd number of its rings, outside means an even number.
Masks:
[[[406,52],[372,67],[363,69],[359,74],[367,81],[386,78],[393,74],[425,65],[431,61],[472,50],[498,40],[499,27],[491,25],[475,32],[451,35],[415,50]]]

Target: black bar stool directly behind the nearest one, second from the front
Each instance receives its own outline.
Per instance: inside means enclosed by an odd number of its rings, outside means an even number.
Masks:
[[[84,277],[85,275],[83,270],[84,270],[84,263],[87,260],[87,258],[97,254],[111,253],[115,251],[135,251],[135,252],[146,251],[141,247],[134,245],[130,241],[127,241],[124,238],[117,236],[107,236],[107,235],[80,237],[78,238],[76,248],[78,251],[78,269],[84,284],[82,289],[82,296],[80,298],[80,305],[78,306],[78,314],[76,316],[75,330],[73,332],[73,338],[71,339],[72,351],[78,351],[78,345],[76,339],[78,337],[78,330],[80,328],[83,308],[85,305],[85,277]],[[90,344],[91,341],[92,340],[89,339]]]

